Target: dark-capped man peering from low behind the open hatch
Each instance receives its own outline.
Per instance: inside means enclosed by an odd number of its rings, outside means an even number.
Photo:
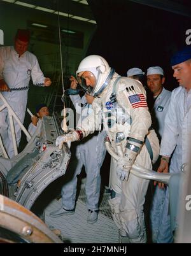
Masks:
[[[28,132],[31,134],[31,136],[36,132],[36,129],[39,125],[41,125],[41,119],[43,117],[49,116],[49,110],[45,103],[38,104],[36,106],[36,115],[31,117],[31,124],[29,124]],[[29,141],[27,139],[27,141]]]

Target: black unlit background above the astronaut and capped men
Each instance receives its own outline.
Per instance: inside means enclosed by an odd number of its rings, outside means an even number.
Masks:
[[[97,31],[87,55],[102,55],[125,76],[129,68],[138,67],[146,72],[149,66],[161,66],[166,75],[165,87],[172,90],[178,86],[170,58],[186,45],[185,32],[191,29],[190,18],[127,0],[89,0],[88,3]]]

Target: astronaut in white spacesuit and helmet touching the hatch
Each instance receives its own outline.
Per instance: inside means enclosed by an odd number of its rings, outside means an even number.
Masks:
[[[122,242],[145,243],[143,204],[149,180],[130,173],[133,164],[152,169],[159,155],[159,140],[149,130],[151,117],[143,85],[120,77],[99,55],[83,59],[76,71],[81,86],[92,87],[94,112],[75,131],[57,138],[57,145],[78,141],[98,130],[103,118],[110,143],[120,160],[113,169],[110,205]],[[118,150],[118,141],[122,150]],[[146,146],[147,145],[147,146]]]

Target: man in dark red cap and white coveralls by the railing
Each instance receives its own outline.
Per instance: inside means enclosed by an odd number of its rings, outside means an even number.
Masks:
[[[2,46],[0,48],[0,92],[22,123],[25,117],[30,78],[37,86],[50,86],[52,83],[50,78],[45,78],[43,75],[36,56],[27,51],[29,40],[30,32],[26,29],[18,29],[14,46]],[[13,157],[15,152],[11,141],[7,108],[0,112],[0,124],[0,134],[4,146],[9,157]],[[21,129],[16,122],[14,125],[18,146]]]

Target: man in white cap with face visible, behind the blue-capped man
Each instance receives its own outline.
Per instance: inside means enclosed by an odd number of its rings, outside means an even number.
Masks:
[[[161,139],[162,132],[164,129],[164,118],[167,113],[169,106],[169,101],[171,98],[171,92],[166,90],[163,87],[165,82],[164,71],[159,66],[150,67],[147,69],[146,73],[146,82],[148,89],[153,94],[154,104],[152,109],[152,122],[153,128],[157,135]],[[154,166],[154,169],[159,167],[159,162]],[[154,183],[156,185],[156,183]],[[169,215],[167,219],[162,222],[160,211],[163,206],[166,198],[166,189],[160,189],[159,187],[155,188],[155,193],[153,196],[151,211],[150,211],[150,224],[152,229],[152,240],[154,243],[167,243],[169,240],[166,240],[167,231],[169,230]]]

